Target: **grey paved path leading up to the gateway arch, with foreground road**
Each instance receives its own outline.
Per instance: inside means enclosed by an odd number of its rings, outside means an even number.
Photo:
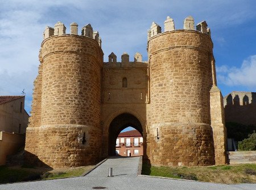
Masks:
[[[254,190],[256,184],[214,184],[197,181],[185,181],[175,179],[163,179],[150,176],[137,176],[139,157],[112,158],[106,160],[95,170],[84,177],[72,177],[67,179],[31,181],[0,185],[2,190],[85,190],[93,187],[105,187],[108,189],[175,189],[175,190]],[[113,167],[114,177],[108,176],[108,168]]]

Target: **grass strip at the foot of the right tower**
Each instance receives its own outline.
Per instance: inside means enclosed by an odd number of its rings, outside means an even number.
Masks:
[[[201,167],[158,167],[142,164],[142,174],[215,183],[256,183],[256,164]]]

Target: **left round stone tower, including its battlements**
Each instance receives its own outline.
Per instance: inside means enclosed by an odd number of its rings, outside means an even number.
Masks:
[[[84,166],[100,159],[103,52],[90,24],[71,34],[47,27],[34,82],[26,156],[51,167]],[[94,38],[93,38],[94,36]]]

